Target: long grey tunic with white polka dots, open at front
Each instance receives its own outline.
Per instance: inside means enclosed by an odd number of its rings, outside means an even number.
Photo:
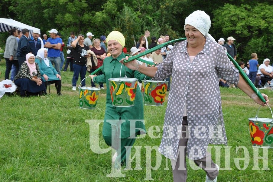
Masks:
[[[206,38],[203,51],[190,62],[187,40],[177,42],[157,67],[153,79],[162,80],[172,75],[159,152],[176,159],[185,103],[188,157],[193,160],[205,157],[209,143],[227,145],[219,77],[237,85],[239,71],[232,66],[223,47]]]

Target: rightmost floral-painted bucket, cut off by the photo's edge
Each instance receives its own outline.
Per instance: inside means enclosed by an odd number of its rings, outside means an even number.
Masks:
[[[271,111],[272,119],[258,118],[258,111],[255,118],[249,118],[249,133],[250,133],[250,140],[252,142],[252,146],[262,147],[262,148],[273,148],[272,111]]]

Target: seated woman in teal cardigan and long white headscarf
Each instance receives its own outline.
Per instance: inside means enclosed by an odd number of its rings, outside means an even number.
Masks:
[[[37,57],[35,62],[39,65],[39,69],[42,75],[43,82],[45,84],[45,88],[47,89],[47,85],[50,83],[55,83],[55,87],[57,90],[57,95],[61,94],[61,76],[58,74],[56,69],[52,66],[51,62],[47,59],[47,49],[41,48],[37,52]]]

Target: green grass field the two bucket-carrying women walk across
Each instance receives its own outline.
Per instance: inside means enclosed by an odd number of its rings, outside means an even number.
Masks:
[[[0,62],[0,80],[4,79],[5,61]],[[52,85],[51,94],[41,97],[21,98],[16,95],[4,95],[0,99],[0,182],[8,181],[52,181],[52,182],[112,182],[112,181],[146,181],[146,157],[148,152],[144,146],[159,146],[162,126],[166,110],[163,107],[145,106],[146,129],[159,126],[160,132],[154,132],[159,138],[151,139],[146,135],[137,139],[135,146],[142,146],[141,169],[124,170],[125,177],[106,177],[111,173],[111,152],[96,154],[89,145],[89,124],[85,120],[102,120],[105,111],[106,90],[101,90],[97,108],[83,110],[79,108],[78,92],[71,89],[72,72],[62,72],[62,96],[57,96]],[[90,80],[90,79],[89,79]],[[90,81],[86,86],[90,86]],[[78,82],[79,84],[79,82]],[[262,90],[273,102],[273,92]],[[220,170],[219,182],[262,182],[273,181],[273,149],[268,149],[268,168],[261,170],[265,161],[258,160],[260,170],[252,170],[257,164],[253,160],[253,148],[248,131],[249,117],[255,117],[258,105],[239,89],[221,88],[222,107],[230,148],[231,170]],[[270,104],[271,105],[271,104]],[[271,117],[267,107],[261,109],[260,117]],[[101,136],[102,124],[99,126],[99,142],[101,148],[107,148]],[[91,138],[92,142],[93,138]],[[236,167],[239,158],[245,153],[236,146],[245,146],[249,152],[249,164],[244,170]],[[132,156],[135,154],[132,149]],[[220,167],[225,167],[229,153],[221,150]],[[263,156],[263,150],[259,149]],[[172,181],[171,163],[162,155],[157,170],[151,170],[151,181]],[[215,148],[212,157],[215,160]],[[229,157],[228,157],[229,158]],[[151,166],[155,167],[156,152],[151,152]],[[239,161],[239,166],[244,167]],[[189,164],[189,163],[188,163]],[[166,165],[169,170],[166,170]],[[238,165],[237,165],[238,166]],[[132,162],[135,168],[135,161]],[[187,181],[204,182],[205,172],[193,170],[188,165]],[[148,177],[147,177],[148,178]]]

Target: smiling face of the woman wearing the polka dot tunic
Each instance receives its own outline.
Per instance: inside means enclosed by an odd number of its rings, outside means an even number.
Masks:
[[[187,37],[188,45],[190,45],[191,47],[197,47],[199,45],[202,45],[205,43],[206,40],[203,37],[203,34],[191,25],[186,25],[185,35]]]

